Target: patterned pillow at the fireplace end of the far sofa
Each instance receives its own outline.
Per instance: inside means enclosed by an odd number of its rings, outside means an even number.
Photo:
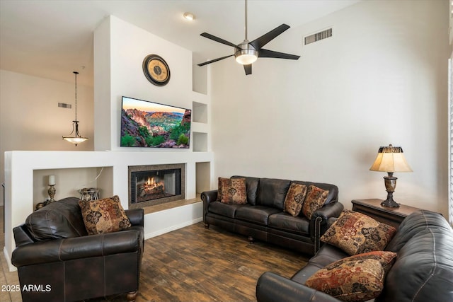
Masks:
[[[220,202],[224,204],[246,204],[245,178],[219,178]]]

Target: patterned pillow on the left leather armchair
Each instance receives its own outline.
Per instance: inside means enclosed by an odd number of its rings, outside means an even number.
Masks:
[[[79,206],[88,235],[117,232],[131,226],[117,195],[98,200],[79,200]]]

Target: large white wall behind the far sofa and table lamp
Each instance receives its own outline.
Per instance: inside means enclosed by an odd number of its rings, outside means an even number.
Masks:
[[[446,215],[448,14],[448,1],[363,1],[265,46],[298,61],[260,58],[251,76],[212,64],[215,176],[330,182],[351,208],[385,199],[385,173],[369,167],[379,146],[401,145],[414,172],[395,173],[394,199]]]

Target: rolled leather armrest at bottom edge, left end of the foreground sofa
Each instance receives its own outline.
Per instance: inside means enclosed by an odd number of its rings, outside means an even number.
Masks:
[[[256,300],[258,302],[340,302],[337,298],[324,294],[322,291],[310,289],[285,277],[265,272],[256,284]]]

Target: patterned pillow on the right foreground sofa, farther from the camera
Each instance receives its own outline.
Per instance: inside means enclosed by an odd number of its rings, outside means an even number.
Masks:
[[[321,236],[321,241],[341,248],[349,255],[384,250],[396,228],[355,211],[344,210]]]

